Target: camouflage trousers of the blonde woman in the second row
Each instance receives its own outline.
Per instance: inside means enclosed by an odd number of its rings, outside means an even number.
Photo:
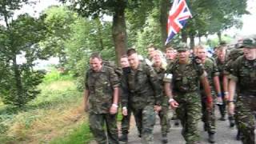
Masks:
[[[166,101],[168,102],[168,100]],[[160,118],[162,135],[166,135],[170,131],[170,118],[168,115],[169,106],[162,106],[162,110],[159,111],[158,116]]]

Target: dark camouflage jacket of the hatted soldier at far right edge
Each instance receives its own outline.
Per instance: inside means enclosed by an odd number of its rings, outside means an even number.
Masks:
[[[234,61],[233,68],[230,78],[238,82],[239,93],[256,95],[256,60],[241,56]]]

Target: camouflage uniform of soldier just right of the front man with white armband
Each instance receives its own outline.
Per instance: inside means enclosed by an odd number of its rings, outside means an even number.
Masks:
[[[216,95],[214,93],[214,77],[218,76],[218,67],[216,65],[216,62],[214,59],[206,58],[206,62],[203,63],[204,68],[207,73],[207,78],[209,79],[211,90],[212,90],[212,96]],[[214,114],[214,105],[213,109],[211,111],[207,110],[206,106],[206,94],[204,90],[201,88],[201,96],[202,96],[202,122],[205,122],[206,130],[208,131],[209,134],[214,134],[216,125],[215,125],[215,114]],[[213,98],[214,99],[214,98]]]

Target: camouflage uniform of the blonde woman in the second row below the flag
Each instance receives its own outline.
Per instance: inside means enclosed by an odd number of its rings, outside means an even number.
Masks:
[[[153,66],[154,67],[154,66]],[[164,83],[163,83],[163,78],[165,76],[166,70],[162,68],[156,68],[154,67],[154,71],[158,74],[158,81],[161,83],[161,90],[162,90],[162,95],[161,95],[161,106],[162,110],[159,111],[158,115],[160,117],[160,124],[161,124],[161,130],[162,130],[162,136],[166,136],[167,133],[170,130],[170,118],[168,117],[168,111],[169,111],[169,103],[168,103],[168,97],[165,96],[164,94]]]

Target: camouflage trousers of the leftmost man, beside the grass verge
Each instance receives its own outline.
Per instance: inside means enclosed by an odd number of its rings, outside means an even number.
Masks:
[[[119,143],[116,114],[94,114],[91,112],[89,122],[90,131],[98,144]],[[106,130],[104,124],[106,124]]]

